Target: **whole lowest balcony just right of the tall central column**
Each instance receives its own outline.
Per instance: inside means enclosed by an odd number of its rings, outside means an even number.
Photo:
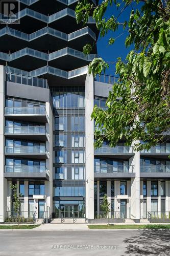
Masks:
[[[134,165],[94,166],[94,178],[135,177]]]

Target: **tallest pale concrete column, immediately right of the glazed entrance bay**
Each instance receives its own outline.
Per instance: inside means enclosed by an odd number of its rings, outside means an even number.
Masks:
[[[94,121],[91,113],[94,105],[94,79],[86,76],[85,82],[86,123],[86,218],[94,219]]]

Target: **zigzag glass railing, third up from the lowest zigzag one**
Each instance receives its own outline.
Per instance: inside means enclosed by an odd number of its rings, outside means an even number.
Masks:
[[[46,34],[53,35],[55,37],[65,40],[65,41],[74,40],[75,38],[77,38],[79,36],[86,35],[86,34],[89,34],[94,40],[96,39],[95,33],[88,27],[77,30],[70,34],[63,33],[61,31],[58,31],[58,30],[50,28],[50,27],[42,28],[32,34],[26,34],[26,33],[20,32],[18,30],[15,30],[15,29],[12,29],[9,27],[5,27],[0,30],[0,36],[6,35],[6,34],[17,37],[22,40],[26,40],[26,41],[32,41],[32,40],[37,39],[38,37],[46,35]]]

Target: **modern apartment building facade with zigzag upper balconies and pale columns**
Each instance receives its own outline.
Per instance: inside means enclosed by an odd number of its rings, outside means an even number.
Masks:
[[[93,4],[95,4],[92,1]],[[93,19],[77,25],[76,0],[21,0],[19,24],[0,25],[0,222],[21,216],[170,218],[170,137],[149,152],[126,140],[94,150],[94,104],[105,102],[114,77],[94,79],[82,53],[95,44]]]

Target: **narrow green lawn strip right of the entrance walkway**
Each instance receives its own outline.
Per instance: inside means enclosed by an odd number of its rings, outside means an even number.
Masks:
[[[149,228],[149,229],[158,229],[158,228],[170,228],[169,225],[88,225],[89,229],[126,229],[126,228]]]

